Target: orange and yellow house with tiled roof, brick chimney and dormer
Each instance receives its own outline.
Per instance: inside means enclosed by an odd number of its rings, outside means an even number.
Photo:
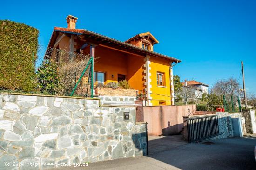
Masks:
[[[95,82],[106,84],[126,79],[136,90],[145,90],[147,105],[174,104],[172,63],[174,57],[153,50],[158,40],[150,33],[141,33],[125,42],[104,35],[76,29],[76,17],[68,15],[67,28],[54,27],[48,47],[82,50],[100,57],[94,66]]]

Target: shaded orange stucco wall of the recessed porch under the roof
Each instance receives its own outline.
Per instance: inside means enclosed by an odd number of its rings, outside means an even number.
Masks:
[[[117,82],[117,75],[126,76],[131,88],[144,89],[143,64],[144,57],[127,54],[121,51],[97,46],[95,48],[95,71],[105,73],[105,84]],[[112,75],[114,76],[112,78]]]

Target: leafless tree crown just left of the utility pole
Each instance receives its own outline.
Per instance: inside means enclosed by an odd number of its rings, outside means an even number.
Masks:
[[[239,82],[233,78],[230,77],[229,79],[220,79],[217,80],[216,83],[213,85],[213,88],[211,89],[211,93],[217,94],[217,95],[235,95],[238,94],[240,89]]]

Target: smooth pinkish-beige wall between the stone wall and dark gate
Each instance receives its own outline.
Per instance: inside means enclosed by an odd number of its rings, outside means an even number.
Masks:
[[[188,109],[192,113],[196,105],[143,107],[144,122],[148,122],[148,135],[179,134],[184,127],[183,116],[188,116]]]

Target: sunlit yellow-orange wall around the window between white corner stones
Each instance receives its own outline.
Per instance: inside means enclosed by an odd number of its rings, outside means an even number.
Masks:
[[[170,62],[168,60],[162,59],[162,58],[158,58],[158,57],[150,57],[149,59],[150,61],[150,73],[151,73],[151,97],[153,100],[151,100],[151,103],[153,106],[155,105],[159,105],[159,101],[165,101],[166,105],[171,105],[171,87],[170,87],[170,72],[169,72],[169,68],[170,68]],[[165,86],[164,87],[160,87],[157,85],[157,78],[156,78],[156,73],[157,72],[162,72],[165,74]],[[165,96],[161,96],[161,95],[156,95],[156,94],[162,94],[162,95],[166,95],[168,97]]]

